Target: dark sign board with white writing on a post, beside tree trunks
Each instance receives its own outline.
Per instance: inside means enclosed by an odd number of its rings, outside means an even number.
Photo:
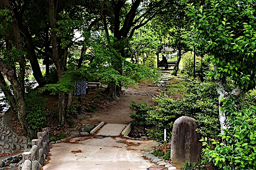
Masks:
[[[75,82],[74,95],[78,96],[78,102],[80,106],[78,107],[78,114],[81,114],[81,95],[88,94],[88,80]]]

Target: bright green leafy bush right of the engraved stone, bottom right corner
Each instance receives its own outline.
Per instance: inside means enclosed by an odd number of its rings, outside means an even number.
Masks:
[[[232,104],[227,108],[229,127],[219,134],[220,140],[202,138],[204,154],[210,157],[209,161],[223,170],[254,170],[256,169],[256,107],[236,110],[234,100],[227,100],[225,104]]]

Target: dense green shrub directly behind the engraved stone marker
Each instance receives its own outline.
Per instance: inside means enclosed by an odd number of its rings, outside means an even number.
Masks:
[[[181,116],[195,118],[200,128],[199,133],[205,137],[214,138],[219,133],[218,120],[218,95],[215,84],[212,82],[200,82],[190,80],[187,85],[187,93],[182,99],[169,98],[160,93],[154,99],[158,105],[148,107],[147,103],[132,103],[131,117],[135,124],[154,124],[155,129],[148,132],[150,138],[157,142],[163,141],[163,130],[167,131],[167,141],[171,140],[173,122]]]

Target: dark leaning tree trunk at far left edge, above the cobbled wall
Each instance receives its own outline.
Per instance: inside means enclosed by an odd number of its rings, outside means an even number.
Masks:
[[[2,73],[0,73],[0,87],[4,93],[5,98],[7,98],[8,102],[10,103],[12,111],[18,112],[14,95],[12,95],[11,91],[7,89],[7,84]]]

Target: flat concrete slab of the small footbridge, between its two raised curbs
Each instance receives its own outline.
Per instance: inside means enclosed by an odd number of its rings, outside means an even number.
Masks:
[[[105,124],[97,133],[98,136],[118,136],[127,124]]]

